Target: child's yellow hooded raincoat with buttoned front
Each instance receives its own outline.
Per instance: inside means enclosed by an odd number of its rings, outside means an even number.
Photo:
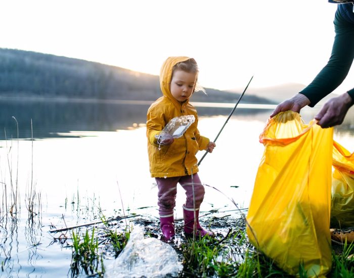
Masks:
[[[149,108],[146,122],[148,137],[148,153],[152,177],[184,176],[198,172],[196,153],[205,150],[209,139],[201,136],[197,124],[196,109],[187,100],[180,103],[174,99],[170,91],[172,68],[176,63],[190,59],[189,57],[169,57],[161,67],[160,87],[163,96]],[[195,122],[180,138],[175,138],[169,146],[157,145],[155,135],[174,117],[194,115]]]

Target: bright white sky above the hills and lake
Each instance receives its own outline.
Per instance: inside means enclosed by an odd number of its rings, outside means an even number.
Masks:
[[[335,10],[326,0],[2,1],[0,48],[154,75],[168,56],[189,56],[205,87],[242,88],[251,76],[254,87],[306,85],[329,59]]]

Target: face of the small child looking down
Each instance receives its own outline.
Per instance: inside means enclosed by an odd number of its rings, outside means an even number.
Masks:
[[[172,97],[179,102],[188,100],[193,94],[196,79],[197,73],[175,70],[170,85]]]

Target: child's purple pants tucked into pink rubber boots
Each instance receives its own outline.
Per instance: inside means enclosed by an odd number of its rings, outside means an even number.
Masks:
[[[158,192],[158,206],[159,214],[161,216],[172,216],[173,208],[175,206],[175,199],[177,194],[177,183],[180,183],[183,189],[186,191],[186,208],[196,208],[200,207],[200,204],[204,199],[204,187],[199,179],[198,174],[193,174],[193,186],[192,186],[192,176],[176,176],[176,177],[155,177]],[[194,200],[193,204],[193,189],[194,189]]]

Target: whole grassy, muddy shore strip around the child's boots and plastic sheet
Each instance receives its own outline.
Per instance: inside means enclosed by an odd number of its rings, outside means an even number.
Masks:
[[[100,217],[101,227],[72,235],[71,269],[75,275],[103,275],[103,260],[116,258],[122,252],[133,224],[145,226],[145,237],[160,236],[157,220],[146,221],[148,224],[144,224],[141,219],[133,219],[128,226],[123,221],[112,222],[104,215]],[[291,277],[249,243],[243,218],[209,217],[207,221],[209,228],[215,231],[214,238],[195,240],[178,232],[176,240],[170,243],[183,263],[179,277]],[[332,270],[327,277],[354,277],[354,259],[348,259],[353,252],[353,244],[345,244],[333,251]],[[308,277],[301,264],[299,277]]]

